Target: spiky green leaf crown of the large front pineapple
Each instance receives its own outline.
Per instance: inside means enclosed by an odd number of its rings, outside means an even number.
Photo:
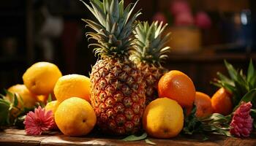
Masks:
[[[99,57],[120,58],[129,55],[133,47],[132,42],[135,40],[132,34],[137,26],[135,19],[141,14],[138,10],[135,15],[132,15],[137,2],[133,6],[129,4],[125,9],[124,0],[120,2],[118,0],[90,0],[91,7],[83,2],[98,21],[82,19],[88,23],[86,26],[96,31],[87,32],[86,37],[97,40],[97,43],[91,45],[96,46],[94,52]]]

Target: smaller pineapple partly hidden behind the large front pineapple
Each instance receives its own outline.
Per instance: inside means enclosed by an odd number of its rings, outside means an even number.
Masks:
[[[131,60],[135,61],[138,68],[146,80],[146,104],[157,99],[157,84],[159,78],[167,70],[161,63],[167,58],[170,47],[164,47],[170,37],[170,33],[163,36],[165,26],[162,22],[153,22],[149,26],[148,22],[138,23],[134,34],[137,38],[135,50],[132,51]]]

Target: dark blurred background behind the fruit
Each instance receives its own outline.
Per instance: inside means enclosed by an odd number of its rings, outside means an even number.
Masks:
[[[254,0],[140,0],[138,8],[140,20],[169,24],[172,51],[165,66],[188,74],[197,91],[216,91],[210,81],[218,71],[227,73],[224,59],[241,69],[256,59]],[[0,88],[22,83],[37,61],[88,76],[97,58],[81,18],[93,19],[78,0],[0,1]]]

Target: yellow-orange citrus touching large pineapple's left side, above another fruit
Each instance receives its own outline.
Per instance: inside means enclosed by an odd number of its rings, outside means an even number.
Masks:
[[[56,82],[54,94],[58,101],[64,101],[70,97],[79,97],[89,101],[91,82],[89,77],[80,74],[69,74],[60,77]]]

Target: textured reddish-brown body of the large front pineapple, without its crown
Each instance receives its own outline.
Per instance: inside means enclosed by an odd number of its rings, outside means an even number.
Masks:
[[[134,134],[145,109],[145,85],[138,67],[127,58],[105,58],[92,67],[91,105],[97,126],[108,134]]]

